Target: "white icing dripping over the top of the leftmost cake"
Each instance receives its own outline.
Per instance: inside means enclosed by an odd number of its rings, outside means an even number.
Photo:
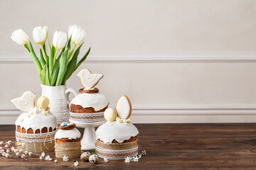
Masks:
[[[43,113],[47,113],[46,115]],[[38,110],[38,113],[21,113],[21,115],[18,116],[15,125],[20,125],[21,129],[25,128],[28,130],[29,128],[32,128],[33,132],[35,132],[38,129],[42,129],[46,127],[48,130],[49,128],[56,128],[57,126],[57,119],[53,113],[50,113],[46,110]]]

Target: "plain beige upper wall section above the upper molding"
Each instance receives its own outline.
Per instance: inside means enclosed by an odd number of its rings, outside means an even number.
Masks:
[[[253,0],[0,1],[0,57],[24,53],[13,30],[35,26],[87,30],[92,52],[233,52],[256,50]]]

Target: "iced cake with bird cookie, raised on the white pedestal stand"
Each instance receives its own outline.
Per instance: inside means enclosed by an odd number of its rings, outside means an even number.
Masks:
[[[92,74],[89,69],[78,73],[83,89],[70,102],[70,122],[93,123],[105,121],[104,111],[110,102],[95,85],[102,79],[102,74]]]

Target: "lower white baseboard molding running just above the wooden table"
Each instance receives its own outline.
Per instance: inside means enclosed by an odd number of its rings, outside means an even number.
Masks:
[[[21,111],[0,107],[0,125],[14,124]],[[256,108],[241,106],[134,106],[134,123],[256,123]]]

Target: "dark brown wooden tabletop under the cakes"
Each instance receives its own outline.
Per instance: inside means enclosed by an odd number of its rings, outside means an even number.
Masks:
[[[0,169],[256,169],[256,124],[139,124],[139,162],[58,163],[0,156]],[[0,141],[14,140],[14,125],[0,125]],[[54,152],[50,153],[54,158]]]

